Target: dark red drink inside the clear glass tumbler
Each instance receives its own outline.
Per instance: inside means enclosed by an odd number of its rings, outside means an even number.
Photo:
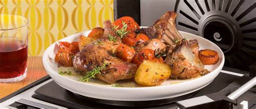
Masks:
[[[12,38],[0,38],[0,79],[24,74],[28,59],[28,45]]]

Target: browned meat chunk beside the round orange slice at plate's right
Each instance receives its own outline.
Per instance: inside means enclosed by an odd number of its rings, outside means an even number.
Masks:
[[[174,51],[171,57],[167,57],[165,63],[170,64],[172,78],[189,79],[199,76],[204,70],[204,64],[198,58],[197,53],[193,53],[187,40],[182,40],[181,45]],[[196,50],[195,50],[196,51]]]

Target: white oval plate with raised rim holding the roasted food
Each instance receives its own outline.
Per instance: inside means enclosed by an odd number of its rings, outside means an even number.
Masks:
[[[60,39],[58,42],[73,42],[77,41],[80,35],[87,36],[90,31],[77,33]],[[152,87],[111,87],[111,85],[91,84],[86,82],[77,81],[76,79],[69,78],[58,74],[58,65],[55,63],[54,57],[56,54],[55,47],[58,42],[53,43],[45,50],[43,54],[43,65],[45,70],[56,83],[66,90],[80,94],[82,96],[105,99],[105,100],[119,100],[119,101],[145,101],[145,100],[158,100],[172,97],[182,96],[191,93],[206,85],[218,76],[220,70],[224,65],[224,54],[220,48],[203,37],[193,35],[191,33],[180,31],[181,36],[186,39],[197,39],[200,49],[211,49],[219,53],[219,61],[214,65],[206,65],[206,69],[211,73],[203,77],[179,80],[177,84],[170,84],[177,82],[176,80],[166,80],[163,85]],[[52,87],[54,88],[54,87]]]

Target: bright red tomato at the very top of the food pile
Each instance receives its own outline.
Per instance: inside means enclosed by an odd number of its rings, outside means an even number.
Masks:
[[[127,31],[135,31],[136,29],[139,29],[139,25],[137,22],[134,21],[132,17],[124,16],[119,19],[117,19],[113,24],[116,26],[119,26],[118,29],[122,29],[123,22],[127,24]]]

